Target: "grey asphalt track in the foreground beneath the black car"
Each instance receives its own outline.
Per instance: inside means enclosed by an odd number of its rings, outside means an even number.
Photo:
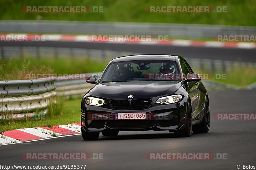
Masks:
[[[81,135],[0,146],[0,165],[81,165],[95,169],[237,169],[256,166],[255,121],[214,120],[215,113],[255,113],[256,90],[209,92],[211,128],[207,134],[178,138],[165,131],[120,132],[84,141]],[[103,153],[103,159],[24,160],[23,153]],[[146,153],[224,153],[227,159],[148,160]]]

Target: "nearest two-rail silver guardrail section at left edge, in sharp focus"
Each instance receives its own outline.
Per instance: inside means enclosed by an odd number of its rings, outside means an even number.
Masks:
[[[29,112],[45,109],[50,99],[56,96],[56,92],[53,91],[55,88],[53,79],[0,81],[0,119],[17,119],[35,115]]]

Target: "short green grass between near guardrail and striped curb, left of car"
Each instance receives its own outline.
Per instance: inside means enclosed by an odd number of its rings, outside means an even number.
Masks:
[[[65,100],[63,108],[57,109],[59,113],[46,117],[45,120],[27,120],[27,121],[0,121],[0,133],[7,130],[34,128],[34,127],[52,127],[55,125],[65,125],[80,122],[81,99]],[[8,124],[10,122],[10,124]]]

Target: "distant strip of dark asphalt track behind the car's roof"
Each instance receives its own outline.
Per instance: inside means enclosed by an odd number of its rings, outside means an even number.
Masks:
[[[138,54],[172,54],[181,55],[184,58],[256,62],[256,49],[157,46],[65,41],[1,42],[0,46],[87,48],[126,52],[132,51]]]

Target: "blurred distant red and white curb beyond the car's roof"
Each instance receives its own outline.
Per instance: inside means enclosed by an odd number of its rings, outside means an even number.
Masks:
[[[0,34],[1,35],[16,35]],[[34,41],[38,34],[19,34],[27,35],[28,41]],[[68,41],[68,42],[92,42],[92,43],[113,43],[113,44],[138,44],[138,45],[160,45],[160,46],[180,46],[180,47],[210,47],[210,48],[243,48],[255,49],[254,42],[221,42],[221,41],[192,41],[192,40],[170,40],[170,41],[90,41],[90,35],[66,35],[66,34],[41,34],[44,35],[42,41]]]

